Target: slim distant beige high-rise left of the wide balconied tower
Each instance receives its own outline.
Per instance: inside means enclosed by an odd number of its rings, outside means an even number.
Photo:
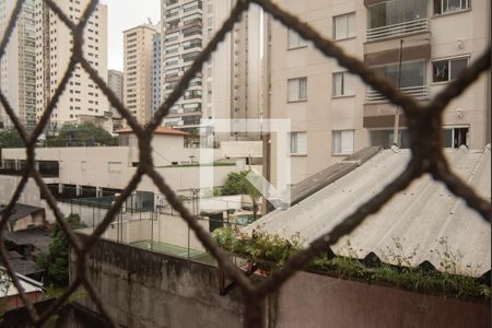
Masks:
[[[124,31],[124,103],[140,124],[151,118],[152,60],[159,26],[142,24]]]

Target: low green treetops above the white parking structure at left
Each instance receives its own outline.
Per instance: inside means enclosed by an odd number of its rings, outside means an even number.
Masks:
[[[58,131],[58,136],[47,140],[47,144],[49,147],[116,145],[118,140],[102,127],[92,122],[84,122],[78,126],[63,125]]]

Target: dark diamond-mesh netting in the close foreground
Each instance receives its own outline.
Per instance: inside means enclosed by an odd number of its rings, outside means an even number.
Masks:
[[[442,151],[442,114],[449,102],[459,96],[479,75],[490,68],[491,50],[489,49],[481,55],[475,62],[472,62],[455,81],[450,82],[445,90],[437,94],[429,104],[415,102],[412,97],[405,95],[384,77],[375,73],[362,61],[351,56],[348,56],[336,43],[323,37],[317,31],[298,20],[295,15],[281,9],[271,0],[238,0],[231,11],[230,16],[224,21],[221,28],[210,39],[207,47],[201,51],[198,58],[194,61],[191,67],[185,72],[177,86],[173,90],[166,101],[160,106],[150,122],[145,126],[140,126],[136,118],[125,106],[118,101],[116,95],[105,84],[104,80],[97,74],[90,62],[84,58],[82,51],[83,45],[83,30],[87,23],[89,17],[96,9],[97,0],[91,0],[82,14],[78,24],[73,23],[55,3],[54,0],[44,0],[49,10],[55,13],[65,25],[73,34],[73,52],[68,63],[67,71],[52,95],[49,104],[46,106],[40,119],[38,120],[34,131],[31,134],[22,126],[20,119],[15,116],[15,110],[7,101],[4,94],[0,91],[0,101],[7,114],[13,122],[15,129],[21,134],[27,153],[27,163],[23,172],[22,178],[17,188],[14,190],[11,201],[4,211],[0,221],[0,229],[5,226],[12,209],[19,200],[27,179],[33,178],[39,190],[46,195],[46,200],[55,213],[57,221],[65,233],[69,236],[71,246],[78,255],[75,277],[70,283],[66,292],[57,298],[47,311],[44,313],[36,313],[33,303],[28,300],[22,290],[19,279],[15,277],[12,266],[7,258],[7,251],[3,247],[3,241],[0,238],[0,256],[5,262],[7,270],[11,277],[14,285],[21,293],[21,297],[28,311],[31,320],[34,326],[42,326],[46,320],[57,313],[68,297],[80,286],[85,288],[89,296],[95,303],[101,314],[107,319],[108,325],[116,327],[113,318],[108,315],[105,304],[98,297],[97,292],[91,284],[89,278],[89,253],[95,247],[98,238],[106,231],[108,225],[113,222],[115,214],[119,211],[126,199],[137,188],[139,181],[144,175],[148,175],[157,186],[160,191],[165,195],[167,201],[187,222],[189,227],[195,232],[198,239],[202,243],[210,254],[215,258],[219,266],[224,270],[230,279],[233,279],[238,288],[242,290],[245,301],[245,319],[247,327],[260,327],[263,324],[263,300],[269,293],[278,291],[282,284],[292,277],[296,271],[302,270],[316,255],[327,249],[330,245],[353,231],[361,222],[363,222],[370,214],[378,211],[393,196],[407,188],[412,180],[422,176],[423,174],[431,174],[436,180],[444,183],[447,188],[458,197],[461,197],[466,203],[481,214],[483,220],[490,222],[491,204],[489,200],[480,198],[473,188],[465,184],[458,176],[456,176],[449,168],[446,159]],[[409,162],[407,169],[396,178],[391,184],[386,186],[384,190],[375,195],[371,200],[362,204],[355,212],[347,216],[332,231],[314,241],[309,247],[294,257],[283,266],[282,269],[272,273],[268,279],[253,283],[243,271],[241,271],[234,263],[231,262],[229,256],[215,245],[210,234],[204,231],[197,222],[191,212],[177,198],[174,190],[166,185],[164,178],[157,174],[152,165],[151,140],[153,131],[160,126],[163,118],[168,114],[169,108],[178,101],[178,98],[186,91],[190,80],[201,70],[202,65],[209,59],[211,54],[216,49],[218,45],[231,32],[234,24],[238,22],[242,14],[246,12],[250,4],[257,4],[262,8],[266,13],[269,13],[274,20],[280,21],[283,25],[297,32],[304,39],[309,40],[313,45],[325,56],[335,58],[341,67],[344,67],[349,72],[356,74],[364,83],[373,90],[383,94],[394,104],[402,108],[407,121],[411,140],[412,159]],[[12,31],[15,27],[16,20],[21,12],[23,1],[17,1],[13,9],[12,15],[9,20],[5,34],[0,44],[0,57],[5,54],[7,44]],[[49,189],[45,185],[39,172],[35,165],[34,149],[38,137],[42,134],[47,121],[54,110],[65,86],[73,72],[75,65],[80,65],[91,79],[101,87],[102,92],[107,96],[110,104],[118,110],[118,113],[127,120],[128,125],[133,129],[139,140],[140,163],[134,176],[129,180],[127,187],[121,195],[116,199],[112,208],[107,211],[104,220],[95,227],[91,237],[84,244],[77,238],[74,233],[70,230],[68,224],[63,221],[62,214],[57,207],[57,202]]]

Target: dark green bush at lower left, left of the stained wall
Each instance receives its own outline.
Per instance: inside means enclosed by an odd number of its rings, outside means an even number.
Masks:
[[[85,227],[78,214],[71,214],[66,220],[71,229]],[[49,253],[36,259],[36,266],[46,270],[48,283],[54,286],[63,288],[69,283],[69,238],[56,222],[52,226]]]

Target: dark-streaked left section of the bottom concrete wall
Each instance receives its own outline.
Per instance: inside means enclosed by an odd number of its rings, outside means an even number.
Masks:
[[[99,242],[90,262],[93,286],[122,327],[243,326],[241,296],[219,295],[213,267],[113,242]]]

